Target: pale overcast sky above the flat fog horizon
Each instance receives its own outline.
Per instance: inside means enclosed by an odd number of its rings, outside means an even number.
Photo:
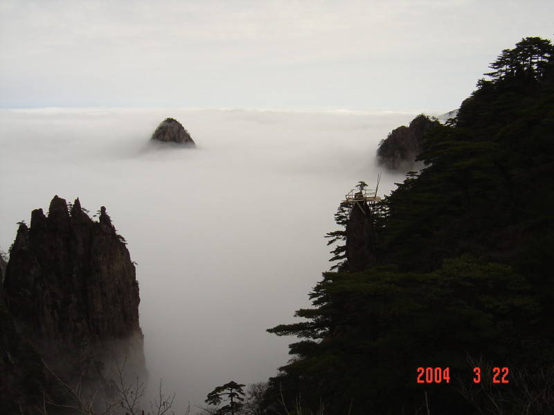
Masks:
[[[0,107],[454,109],[554,1],[0,0]]]

